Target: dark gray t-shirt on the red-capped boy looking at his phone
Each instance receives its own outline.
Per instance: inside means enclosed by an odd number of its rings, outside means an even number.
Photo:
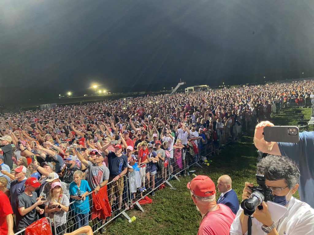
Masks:
[[[24,192],[18,196],[17,199],[17,207],[24,207],[25,209],[34,205],[37,201],[37,194],[33,192],[32,196],[26,195]],[[36,213],[36,209],[34,208],[26,215],[21,216],[19,210],[16,210],[16,229],[17,231],[22,230],[32,224],[33,222],[38,220],[38,215]]]

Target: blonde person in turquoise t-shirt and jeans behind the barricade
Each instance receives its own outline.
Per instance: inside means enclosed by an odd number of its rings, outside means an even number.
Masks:
[[[73,174],[73,182],[69,186],[70,198],[74,201],[71,204],[71,209],[74,212],[76,221],[76,229],[88,225],[89,216],[89,196],[86,196],[90,191],[88,182],[83,179],[83,172],[77,170]]]

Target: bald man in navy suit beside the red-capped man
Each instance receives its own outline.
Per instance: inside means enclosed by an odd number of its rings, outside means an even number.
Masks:
[[[217,204],[229,206],[231,211],[236,214],[239,210],[239,199],[236,192],[232,189],[232,181],[229,175],[222,175],[217,182],[218,191],[221,193]]]

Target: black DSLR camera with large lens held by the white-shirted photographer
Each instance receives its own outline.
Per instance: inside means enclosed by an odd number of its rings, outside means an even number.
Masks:
[[[263,201],[274,200],[272,191],[265,185],[264,175],[256,174],[255,176],[258,186],[249,187],[253,191],[251,196],[241,202],[243,212],[247,216],[251,216],[255,212],[256,207],[260,210],[263,209],[261,205]]]

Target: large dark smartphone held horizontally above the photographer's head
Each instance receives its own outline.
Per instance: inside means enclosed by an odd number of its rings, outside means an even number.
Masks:
[[[299,128],[295,126],[264,127],[264,139],[268,142],[298,143]]]

